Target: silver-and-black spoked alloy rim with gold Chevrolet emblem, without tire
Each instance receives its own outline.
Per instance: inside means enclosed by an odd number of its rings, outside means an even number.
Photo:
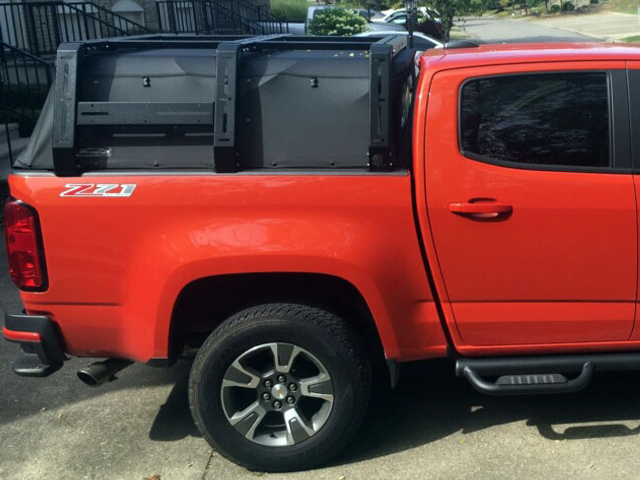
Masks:
[[[326,423],[334,404],[333,382],[305,349],[262,343],[227,368],[220,400],[230,426],[246,439],[268,447],[295,445]]]

